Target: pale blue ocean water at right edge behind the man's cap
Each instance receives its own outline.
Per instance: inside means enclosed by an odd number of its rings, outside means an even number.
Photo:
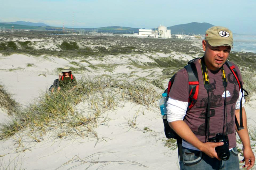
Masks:
[[[244,51],[256,53],[256,35],[233,34],[232,51]]]

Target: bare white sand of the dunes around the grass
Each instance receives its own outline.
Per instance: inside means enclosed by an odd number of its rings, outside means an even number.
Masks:
[[[130,74],[132,71],[135,76],[147,76],[152,72],[155,76],[161,75],[162,69],[143,70],[135,68],[127,68],[130,59],[137,62],[152,62],[147,56],[156,55],[167,57],[173,55],[179,58],[178,54],[145,54],[145,55],[122,55],[108,56],[104,58],[103,63],[122,63],[113,72],[102,70],[91,70],[92,72],[85,71],[83,73],[74,74],[76,77],[97,76],[100,74]],[[191,56],[186,56],[189,60]],[[180,59],[180,58],[179,58]],[[92,64],[102,63],[101,60],[87,58],[87,61]],[[58,67],[65,65],[74,66],[70,64],[72,61],[79,62],[79,60],[70,60],[57,57],[40,57],[17,55],[11,56],[0,55],[0,83],[13,94],[13,98],[23,105],[28,105],[34,98],[40,95],[41,91],[48,90],[49,86],[57,78]],[[27,67],[27,63],[33,63],[32,67]],[[88,66],[88,63],[81,63]],[[16,69],[9,71],[9,69]],[[19,81],[18,81],[19,73]],[[38,76],[45,74],[44,76]],[[80,103],[79,107],[82,109],[86,105]],[[0,141],[0,165],[7,167],[10,163],[10,169],[17,163],[21,169],[28,170],[44,170],[44,169],[86,169],[89,170],[111,169],[111,170],[160,170],[160,169],[179,169],[177,150],[171,151],[164,147],[166,138],[163,132],[163,123],[158,108],[147,110],[145,107],[136,105],[130,102],[125,102],[124,107],[118,107],[115,111],[108,111],[104,115],[108,115],[110,121],[101,124],[95,131],[98,134],[99,141],[96,138],[79,138],[79,139],[56,139],[54,130],[43,135],[43,138],[33,140],[28,136],[22,136],[25,133],[18,133],[14,137],[6,141]],[[130,129],[127,120],[133,119],[133,116],[138,112],[136,120],[136,128]],[[253,125],[255,117],[255,109],[248,108],[247,115],[250,119],[250,125]],[[8,115],[0,110],[1,122],[8,121]],[[152,129],[152,132],[145,132],[144,127]],[[19,140],[22,141],[19,144]],[[97,144],[96,144],[97,143]],[[96,145],[95,145],[96,144]],[[92,155],[94,154],[94,155]],[[92,155],[91,157],[88,157]],[[73,161],[67,163],[72,158],[78,157],[82,160],[88,161],[87,163],[81,161]],[[241,159],[241,157],[240,157]],[[91,161],[91,163],[89,162]],[[107,162],[103,162],[107,161]],[[111,161],[111,162],[110,162]],[[116,162],[120,161],[120,162]],[[96,163],[93,165],[93,163]],[[109,163],[109,164],[108,164]],[[80,165],[80,166],[79,166]],[[104,166],[105,165],[105,166]],[[144,166],[142,166],[144,165]],[[102,167],[104,166],[104,167]],[[0,169],[2,168],[0,166]]]

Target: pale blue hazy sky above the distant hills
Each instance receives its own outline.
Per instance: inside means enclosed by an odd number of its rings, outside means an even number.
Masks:
[[[0,21],[50,26],[155,28],[190,22],[256,34],[255,0],[1,0]]]

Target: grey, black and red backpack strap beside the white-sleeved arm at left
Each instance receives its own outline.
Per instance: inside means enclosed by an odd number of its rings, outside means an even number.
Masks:
[[[188,97],[188,108],[190,110],[197,101],[198,92],[199,92],[199,81],[198,74],[196,70],[196,65],[194,62],[189,63],[185,66],[185,69],[188,72],[188,85],[189,85],[189,97]]]

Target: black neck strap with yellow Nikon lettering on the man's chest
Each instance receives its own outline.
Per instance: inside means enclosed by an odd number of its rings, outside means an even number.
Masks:
[[[210,98],[210,95],[209,95],[209,91],[210,91],[211,85],[210,85],[210,80],[209,80],[209,76],[208,76],[207,67],[205,65],[204,57],[201,59],[201,69],[202,69],[202,74],[203,74],[203,79],[204,79],[204,88],[206,89],[207,95],[208,95],[207,107],[206,107],[206,112],[205,112],[205,142],[207,142],[209,140],[209,137],[210,137],[210,105],[211,105],[211,98]],[[225,121],[227,123],[227,114],[226,114],[227,113],[226,112],[226,97],[227,97],[227,94],[226,94],[226,87],[228,85],[228,81],[227,81],[226,73],[225,73],[225,70],[223,69],[223,66],[221,67],[221,74],[222,74],[222,82],[223,82],[223,86],[224,86],[224,90],[225,90],[224,122],[223,122],[223,134],[224,134],[224,124],[225,124]]]

